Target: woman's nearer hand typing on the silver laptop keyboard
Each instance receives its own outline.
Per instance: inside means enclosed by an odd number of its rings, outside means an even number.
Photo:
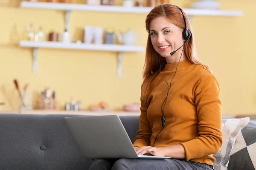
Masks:
[[[165,156],[163,147],[143,146],[135,150],[138,155]]]

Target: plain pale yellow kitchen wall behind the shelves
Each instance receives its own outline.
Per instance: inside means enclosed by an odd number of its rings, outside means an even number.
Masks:
[[[83,0],[76,0],[81,3]],[[182,8],[191,1],[171,0]],[[0,2],[0,110],[17,109],[17,91],[13,79],[21,85],[29,83],[29,91],[35,97],[46,87],[56,91],[57,109],[64,109],[70,98],[82,101],[82,108],[106,101],[111,109],[121,110],[122,105],[140,102],[140,85],[144,53],[125,53],[122,77],[117,77],[116,52],[82,51],[65,49],[40,49],[38,72],[32,73],[32,49],[20,48],[17,43],[29,23],[35,28],[64,31],[64,12],[18,8],[20,0]],[[120,5],[121,0],[116,0]],[[252,54],[256,38],[252,21],[256,2],[241,0],[221,1],[222,9],[242,10],[242,17],[193,17],[198,55],[209,65],[221,86],[223,113],[256,112],[256,59]],[[124,32],[128,28],[144,35],[146,14],[116,14],[105,12],[73,11],[70,18],[70,34],[73,41],[83,40],[86,25],[115,28]],[[116,42],[118,42],[116,40]],[[34,102],[35,103],[35,102]]]

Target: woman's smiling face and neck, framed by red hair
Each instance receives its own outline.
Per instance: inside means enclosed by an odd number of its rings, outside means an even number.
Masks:
[[[170,53],[183,45],[185,40],[182,32],[182,28],[175,26],[166,17],[157,17],[150,23],[152,45],[158,54],[166,58],[167,63],[178,62],[180,59],[183,47],[172,56]],[[182,54],[180,60],[184,59],[186,57]]]

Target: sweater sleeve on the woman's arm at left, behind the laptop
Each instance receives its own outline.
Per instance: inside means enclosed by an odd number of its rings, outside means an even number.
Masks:
[[[140,103],[140,126],[137,136],[134,139],[134,147],[150,146],[150,138],[152,135],[150,122],[147,116],[148,105],[143,99],[140,99]]]

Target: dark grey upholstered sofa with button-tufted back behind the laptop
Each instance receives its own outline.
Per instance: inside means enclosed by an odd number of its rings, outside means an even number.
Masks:
[[[1,113],[0,169],[88,170],[94,160],[83,157],[64,121],[67,116],[84,115]],[[133,141],[139,117],[120,116],[120,119]],[[249,124],[256,126],[255,122]]]

